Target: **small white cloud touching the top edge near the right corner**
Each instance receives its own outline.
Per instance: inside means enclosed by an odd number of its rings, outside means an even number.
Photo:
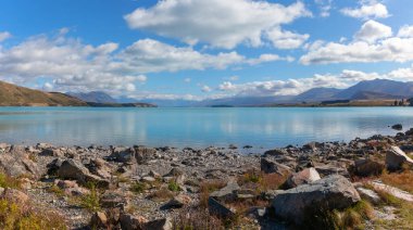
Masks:
[[[360,8],[345,8],[341,13],[356,18],[385,18],[389,17],[387,7],[376,1],[361,1]]]

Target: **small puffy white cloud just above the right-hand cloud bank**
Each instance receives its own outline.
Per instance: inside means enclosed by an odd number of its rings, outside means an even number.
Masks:
[[[355,38],[372,43],[377,39],[391,37],[391,27],[370,20],[362,25],[361,29],[355,34]]]

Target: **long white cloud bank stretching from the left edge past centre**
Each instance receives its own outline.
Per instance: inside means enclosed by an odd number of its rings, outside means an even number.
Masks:
[[[205,54],[151,39],[120,50],[114,42],[90,46],[59,33],[52,37],[34,36],[0,49],[0,78],[25,85],[48,78],[50,82],[42,86],[47,90],[103,90],[120,95],[135,91],[137,82],[147,81],[147,73],[224,69],[277,60],[284,59],[272,54],[247,59],[237,52]]]

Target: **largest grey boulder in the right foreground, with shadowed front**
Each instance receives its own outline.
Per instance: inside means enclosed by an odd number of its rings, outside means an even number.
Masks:
[[[320,208],[343,209],[359,201],[360,195],[352,183],[342,176],[334,175],[277,194],[272,206],[276,216],[300,225]]]

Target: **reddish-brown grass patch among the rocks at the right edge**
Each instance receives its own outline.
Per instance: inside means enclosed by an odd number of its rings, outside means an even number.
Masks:
[[[404,170],[400,174],[383,173],[380,179],[384,183],[413,193],[413,171]]]

